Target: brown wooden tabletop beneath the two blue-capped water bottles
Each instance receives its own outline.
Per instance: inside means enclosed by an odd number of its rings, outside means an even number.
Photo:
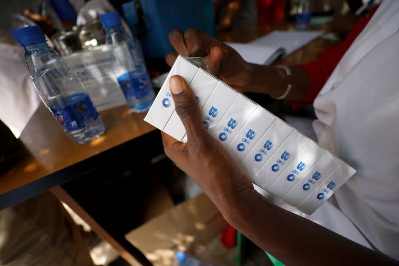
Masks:
[[[38,184],[43,177],[57,175],[78,162],[155,130],[143,121],[145,114],[133,114],[127,106],[100,112],[100,116],[106,133],[88,144],[76,144],[63,133],[41,104],[20,136],[26,153],[14,167],[0,176],[0,209],[7,207],[4,201],[7,193],[18,191],[32,182]],[[67,180],[58,180],[62,181]],[[47,189],[51,185],[54,184]],[[27,195],[24,197],[28,198]],[[13,203],[8,202],[9,205]]]

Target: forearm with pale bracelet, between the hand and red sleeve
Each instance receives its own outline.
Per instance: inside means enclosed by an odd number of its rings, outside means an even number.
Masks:
[[[245,86],[245,91],[280,96],[285,93],[288,84],[291,84],[291,91],[286,98],[303,100],[310,87],[309,74],[300,66],[293,66],[290,69],[291,76],[278,67],[251,64],[251,79]]]

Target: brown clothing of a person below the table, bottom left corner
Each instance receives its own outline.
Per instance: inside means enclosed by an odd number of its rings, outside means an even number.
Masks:
[[[44,192],[0,211],[0,266],[94,266],[82,231]]]

